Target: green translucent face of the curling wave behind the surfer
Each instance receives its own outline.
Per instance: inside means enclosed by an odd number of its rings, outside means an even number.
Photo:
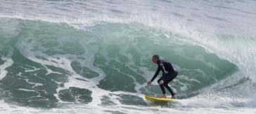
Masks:
[[[8,18],[0,24],[1,57],[13,61],[1,80],[1,99],[18,106],[54,108],[60,101],[89,104],[94,88],[67,87],[73,75],[101,90],[158,96],[158,85],[146,86],[157,69],[151,62],[153,54],[168,59],[179,71],[169,85],[182,98],[194,97],[238,71],[215,53],[177,40],[184,37],[181,34],[169,33],[167,38],[162,31],[137,23],[103,23],[86,31],[64,23]],[[111,96],[119,97],[121,104],[146,105],[131,94]],[[107,96],[101,104],[115,105]]]

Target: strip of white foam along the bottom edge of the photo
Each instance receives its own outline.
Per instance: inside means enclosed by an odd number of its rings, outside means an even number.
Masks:
[[[4,101],[0,101],[0,112],[1,113],[107,113],[105,111],[118,111],[122,113],[256,113],[254,108],[161,108],[160,106],[90,106],[88,104],[70,104],[63,108],[51,108],[51,109],[41,109],[41,108],[30,108],[15,106],[12,104],[6,104]],[[110,112],[109,112],[110,113]]]

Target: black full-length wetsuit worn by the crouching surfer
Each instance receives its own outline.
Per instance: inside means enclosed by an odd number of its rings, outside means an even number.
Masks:
[[[167,90],[169,90],[169,92],[172,95],[174,95],[175,93],[172,91],[172,88],[169,87],[168,83],[177,77],[178,72],[174,70],[171,63],[167,62],[166,60],[159,59],[158,60],[158,70],[155,72],[155,75],[153,76],[151,81],[153,81],[158,76],[160,71],[162,71],[162,77],[158,80],[158,83],[160,82],[160,80],[164,81],[164,83],[162,85],[160,85],[162,94],[166,93],[165,92],[165,87],[166,87]]]

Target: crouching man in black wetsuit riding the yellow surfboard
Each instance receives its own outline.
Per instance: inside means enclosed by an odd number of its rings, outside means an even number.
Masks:
[[[165,92],[165,87],[172,94],[172,99],[176,99],[177,95],[173,92],[172,88],[169,87],[168,83],[171,82],[174,78],[177,77],[178,72],[174,70],[172,64],[164,59],[160,59],[159,55],[153,55],[152,61],[155,64],[158,64],[158,70],[155,72],[155,75],[151,80],[148,81],[148,85],[151,85],[153,80],[158,76],[159,72],[162,71],[162,77],[158,80],[158,84],[162,90],[162,98],[167,98]]]

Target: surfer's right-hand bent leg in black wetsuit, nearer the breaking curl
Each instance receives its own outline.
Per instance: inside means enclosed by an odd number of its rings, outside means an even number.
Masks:
[[[178,75],[177,72],[174,73],[167,73],[164,79],[164,86],[167,88],[167,90],[169,90],[169,92],[172,94],[172,96],[176,93],[173,92],[172,88],[169,87],[168,83],[171,82],[174,78],[176,78]]]

